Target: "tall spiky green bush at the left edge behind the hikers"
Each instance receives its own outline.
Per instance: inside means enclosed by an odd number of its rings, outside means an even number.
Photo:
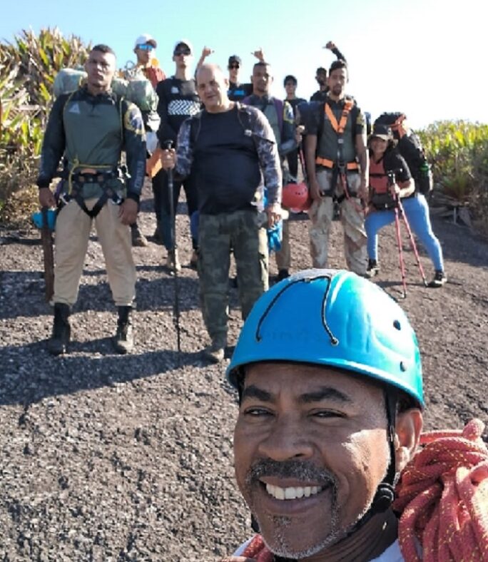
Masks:
[[[13,43],[0,43],[0,223],[19,222],[6,201],[34,184],[56,74],[82,64],[88,50],[59,29],[22,31]]]

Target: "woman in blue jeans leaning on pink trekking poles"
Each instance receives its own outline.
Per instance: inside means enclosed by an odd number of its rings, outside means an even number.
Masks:
[[[429,283],[429,287],[442,287],[447,277],[444,274],[442,248],[432,232],[427,200],[425,195],[415,188],[415,181],[407,163],[395,146],[396,141],[392,138],[390,127],[375,125],[369,141],[370,206],[365,221],[367,276],[374,277],[380,270],[377,233],[395,220],[398,200],[405,212],[406,222],[424,245],[434,265],[434,279]]]

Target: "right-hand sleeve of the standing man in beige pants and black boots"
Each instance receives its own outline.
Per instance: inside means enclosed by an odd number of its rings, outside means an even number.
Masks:
[[[138,202],[146,175],[146,133],[141,111],[134,103],[123,101],[123,145],[129,173],[127,197]]]

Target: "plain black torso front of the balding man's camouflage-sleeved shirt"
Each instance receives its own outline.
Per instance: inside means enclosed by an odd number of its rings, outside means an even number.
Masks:
[[[253,208],[261,183],[258,153],[253,138],[244,134],[237,107],[224,113],[203,111],[200,120],[192,166],[200,213]]]

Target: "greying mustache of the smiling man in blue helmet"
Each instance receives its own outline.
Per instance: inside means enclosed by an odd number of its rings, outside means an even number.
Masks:
[[[304,482],[316,482],[320,486],[337,487],[337,479],[332,472],[319,469],[307,461],[274,461],[260,459],[251,466],[246,476],[246,484],[254,484],[263,476],[276,478],[292,478]]]

